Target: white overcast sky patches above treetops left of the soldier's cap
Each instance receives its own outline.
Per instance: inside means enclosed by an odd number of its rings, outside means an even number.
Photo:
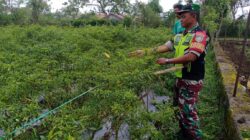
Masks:
[[[142,1],[145,3],[148,2],[148,0],[139,0],[139,1]],[[67,0],[50,0],[49,3],[51,4],[52,11],[54,12],[57,9],[61,9],[63,2],[67,2]],[[135,0],[130,0],[130,2],[134,3]],[[173,5],[177,2],[178,2],[178,0],[160,0],[160,5],[162,6],[164,12],[166,12],[169,9],[171,9],[173,7]]]

